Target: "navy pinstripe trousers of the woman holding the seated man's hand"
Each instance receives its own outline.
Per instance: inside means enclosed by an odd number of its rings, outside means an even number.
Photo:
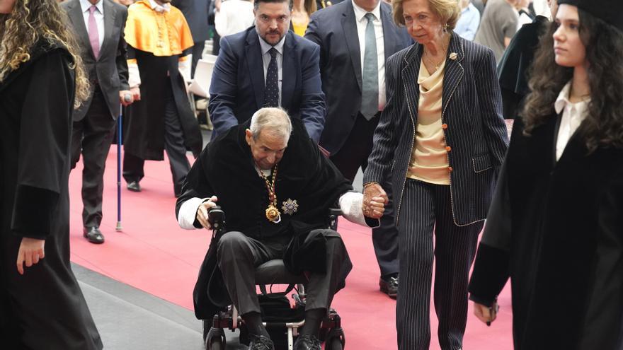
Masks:
[[[450,186],[407,179],[399,217],[400,288],[396,329],[400,350],[430,345],[430,286],[435,258],[435,312],[442,350],[462,349],[467,281],[484,221],[457,226]],[[435,246],[433,248],[433,232]]]

